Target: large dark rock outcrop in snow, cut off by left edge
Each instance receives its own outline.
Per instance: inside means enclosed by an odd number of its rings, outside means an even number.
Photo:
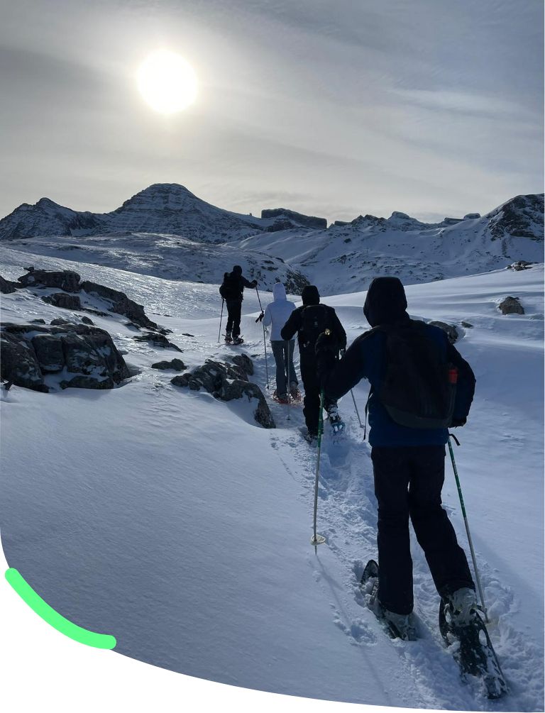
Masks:
[[[2,379],[34,391],[54,386],[113,389],[130,376],[110,335],[98,327],[6,323],[1,325],[0,344]],[[47,374],[59,376],[47,383]]]

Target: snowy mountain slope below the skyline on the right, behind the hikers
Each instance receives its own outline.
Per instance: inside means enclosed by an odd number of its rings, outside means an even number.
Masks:
[[[240,245],[282,257],[322,294],[357,292],[377,275],[417,284],[495,270],[516,260],[541,262],[543,217],[543,195],[526,195],[483,217],[427,225],[399,212],[388,219],[365,215],[297,237],[289,230],[263,233]]]

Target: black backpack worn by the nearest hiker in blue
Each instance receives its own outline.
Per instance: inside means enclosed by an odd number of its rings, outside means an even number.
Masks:
[[[390,418],[411,429],[449,428],[458,370],[445,361],[427,324],[411,319],[403,324],[380,325],[371,331],[379,330],[386,334],[386,369],[375,393]]]

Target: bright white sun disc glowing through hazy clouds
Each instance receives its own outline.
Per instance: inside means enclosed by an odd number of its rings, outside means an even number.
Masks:
[[[151,108],[173,114],[193,104],[197,77],[193,67],[175,52],[152,52],[138,68],[138,89]]]

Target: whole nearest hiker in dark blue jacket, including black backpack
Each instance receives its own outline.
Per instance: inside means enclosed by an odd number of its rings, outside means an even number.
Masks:
[[[442,329],[410,319],[406,309],[399,279],[377,277],[364,306],[372,329],[357,337],[340,361],[338,345],[326,334],[317,339],[316,353],[328,399],[339,399],[360,379],[370,381],[379,563],[369,603],[395,635],[412,640],[417,632],[409,518],[453,620],[469,625],[477,607],[466,555],[441,501],[448,429],[465,424],[475,377]]]

